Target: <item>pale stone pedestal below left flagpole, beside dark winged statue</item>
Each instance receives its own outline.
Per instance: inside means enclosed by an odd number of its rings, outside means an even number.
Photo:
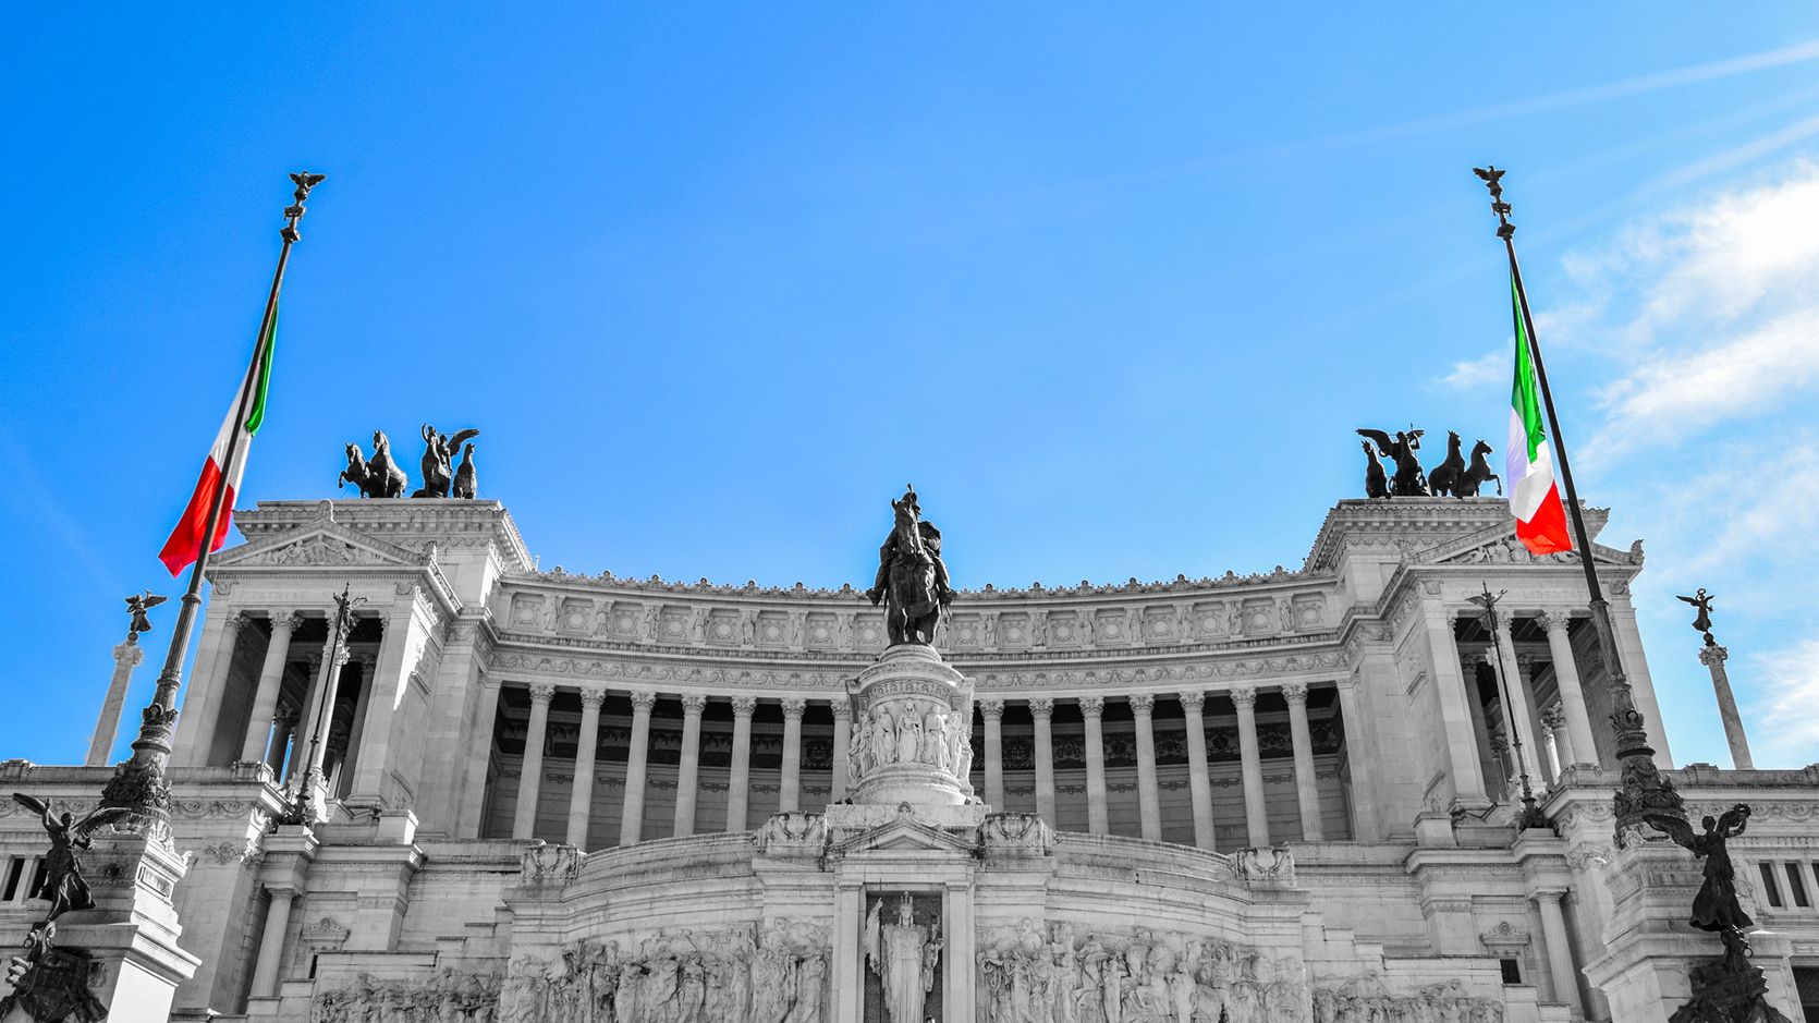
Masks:
[[[129,834],[96,834],[82,854],[95,908],[56,919],[56,948],[87,950],[89,992],[109,1023],[164,1023],[176,985],[202,963],[176,947],[171,892],[189,870],[173,848]]]

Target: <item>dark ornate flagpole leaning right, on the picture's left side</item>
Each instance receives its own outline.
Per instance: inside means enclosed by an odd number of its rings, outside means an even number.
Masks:
[[[284,284],[284,268],[291,258],[291,246],[302,237],[296,222],[304,217],[304,200],[309,189],[322,184],[322,175],[309,171],[291,175],[296,182],[293,206],[284,209],[284,228],[278,237],[284,248],[278,249],[278,269],[271,275],[271,291],[266,295],[266,315],[258,320],[258,337],[253,344],[253,364],[247,366],[246,380],[240,384],[240,402],[235,410],[235,428],[227,433],[227,455],[220,466],[220,479],[215,484],[215,499],[209,504],[207,524],[196,548],[195,568],[189,570],[189,588],[184,592],[182,606],[176,612],[176,624],[171,628],[171,646],[164,655],[164,670],[158,674],[158,688],[146,706],[138,739],[133,739],[133,755],[120,761],[107,786],[102,788],[102,806],[126,806],[133,814],[122,821],[127,830],[167,841],[171,823],[171,788],[164,781],[166,759],[171,755],[171,724],[176,721],[176,690],[182,686],[184,655],[189,652],[189,635],[195,632],[196,608],[202,606],[202,573],[207,570],[209,553],[215,548],[215,530],[222,521],[227,504],[227,481],[233,473],[233,461],[240,444],[240,430],[246,422],[247,406],[258,386],[262,366],[271,355],[271,326],[278,309],[278,288]]]

